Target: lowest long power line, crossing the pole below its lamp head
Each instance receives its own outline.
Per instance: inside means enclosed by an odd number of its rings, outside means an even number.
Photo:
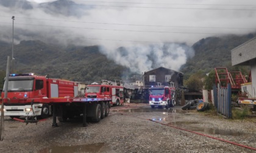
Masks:
[[[9,22],[0,22],[4,24],[10,24]],[[143,30],[119,30],[119,29],[98,29],[98,28],[88,28],[88,27],[68,27],[60,25],[40,25],[40,24],[21,24],[20,25],[33,25],[33,26],[42,26],[42,27],[58,27],[58,28],[72,28],[72,29],[91,29],[91,30],[111,30],[111,31],[121,31],[121,32],[148,32],[148,33],[181,33],[181,34],[199,34],[199,35],[222,35],[229,33],[199,33],[199,32],[165,32],[165,31],[143,31]]]

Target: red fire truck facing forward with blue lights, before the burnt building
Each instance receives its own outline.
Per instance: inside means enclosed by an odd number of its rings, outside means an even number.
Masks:
[[[175,87],[174,83],[170,86],[152,86],[149,88],[149,105],[154,108],[159,107],[174,107],[175,101]]]

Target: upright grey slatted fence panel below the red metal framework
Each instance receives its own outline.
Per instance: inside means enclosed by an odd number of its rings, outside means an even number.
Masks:
[[[218,88],[213,86],[213,97],[214,104],[218,112],[227,118],[232,118],[232,108],[231,108],[231,86],[230,84],[227,87]]]

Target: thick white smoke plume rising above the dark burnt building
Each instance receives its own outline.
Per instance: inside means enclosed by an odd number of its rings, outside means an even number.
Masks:
[[[122,66],[129,67],[132,72],[146,72],[157,67],[179,70],[187,58],[194,56],[194,50],[185,44],[159,43],[121,47],[119,49],[101,48],[108,58]]]

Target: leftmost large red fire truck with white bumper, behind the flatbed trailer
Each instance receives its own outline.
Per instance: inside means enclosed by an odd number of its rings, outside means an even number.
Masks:
[[[32,115],[47,118],[52,113],[49,103],[37,100],[60,97],[76,97],[77,84],[71,81],[50,79],[34,73],[10,74],[8,82],[8,103],[4,103],[5,116],[19,118]],[[4,97],[4,90],[2,97]],[[31,105],[31,100],[35,102]],[[33,111],[32,111],[33,107]]]

